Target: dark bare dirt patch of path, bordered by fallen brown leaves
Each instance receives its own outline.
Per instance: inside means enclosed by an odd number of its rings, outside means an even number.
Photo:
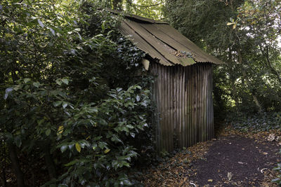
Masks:
[[[192,162],[190,177],[199,186],[269,186],[264,174],[280,161],[279,148],[270,142],[233,135],[214,141],[202,160]]]

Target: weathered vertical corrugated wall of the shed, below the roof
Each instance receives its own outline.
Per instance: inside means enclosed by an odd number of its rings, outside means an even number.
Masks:
[[[166,67],[151,63],[155,75],[157,151],[192,146],[214,137],[211,63]]]

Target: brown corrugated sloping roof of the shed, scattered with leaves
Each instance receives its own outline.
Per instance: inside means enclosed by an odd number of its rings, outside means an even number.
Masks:
[[[204,52],[195,43],[166,22],[150,20],[138,15],[125,15],[120,32],[130,35],[135,45],[165,66],[188,66],[197,62],[222,64],[221,60]]]

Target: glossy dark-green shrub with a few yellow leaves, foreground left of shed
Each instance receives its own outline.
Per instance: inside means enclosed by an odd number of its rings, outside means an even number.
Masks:
[[[68,85],[67,79],[61,81]],[[4,134],[7,141],[23,150],[43,149],[40,142],[49,144],[52,151],[60,149],[65,174],[58,180],[65,184],[130,184],[119,170],[130,167],[131,158],[137,156],[128,137],[148,127],[148,90],[138,85],[128,90],[117,88],[110,90],[108,99],[85,104],[73,103],[71,95],[60,88],[63,84],[58,85],[60,80],[55,90],[28,79],[18,83],[6,89],[5,97],[13,106],[6,111],[5,122],[14,122],[11,111],[18,122],[13,127],[15,133]]]

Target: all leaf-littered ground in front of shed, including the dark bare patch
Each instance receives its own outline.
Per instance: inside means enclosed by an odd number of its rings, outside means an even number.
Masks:
[[[280,130],[242,133],[226,127],[216,139],[198,143],[143,169],[145,186],[277,186]]]

